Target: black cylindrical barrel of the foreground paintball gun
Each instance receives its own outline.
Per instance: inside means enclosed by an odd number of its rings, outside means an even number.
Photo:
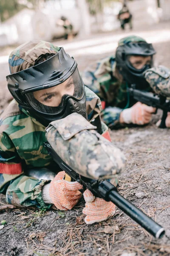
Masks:
[[[156,238],[164,236],[164,228],[131,204],[127,199],[123,198],[108,180],[103,181],[101,185],[99,185],[98,191],[103,199],[111,201],[151,235]]]

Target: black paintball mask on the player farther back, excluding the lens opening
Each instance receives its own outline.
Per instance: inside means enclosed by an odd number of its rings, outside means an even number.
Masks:
[[[136,84],[137,89],[145,90],[149,84],[144,79],[143,72],[153,67],[153,55],[155,53],[152,44],[147,44],[144,40],[127,42],[119,45],[116,49],[116,67],[128,84]],[[151,62],[149,65],[144,65],[142,69],[136,69],[129,61],[130,55],[151,56]]]

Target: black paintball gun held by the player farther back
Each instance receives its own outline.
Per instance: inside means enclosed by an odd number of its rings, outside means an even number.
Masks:
[[[156,95],[155,93],[150,93],[143,90],[135,89],[135,85],[132,84],[131,87],[127,88],[127,92],[129,92],[129,96],[132,96],[136,101],[142,102],[148,106],[156,108],[160,108],[163,111],[161,123],[159,128],[166,128],[165,120],[167,118],[167,112],[170,111],[170,100],[166,99],[166,96]],[[156,112],[155,112],[156,113]]]

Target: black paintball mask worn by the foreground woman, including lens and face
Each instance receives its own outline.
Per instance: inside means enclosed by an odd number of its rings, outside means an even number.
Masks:
[[[14,99],[44,126],[74,112],[87,119],[85,87],[77,62],[63,48],[6,79]]]

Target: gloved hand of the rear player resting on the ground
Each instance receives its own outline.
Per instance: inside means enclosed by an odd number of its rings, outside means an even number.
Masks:
[[[155,111],[156,108],[147,106],[141,102],[137,102],[135,105],[133,105],[133,107],[126,108],[122,111],[120,122],[145,125],[150,122],[152,113]]]

